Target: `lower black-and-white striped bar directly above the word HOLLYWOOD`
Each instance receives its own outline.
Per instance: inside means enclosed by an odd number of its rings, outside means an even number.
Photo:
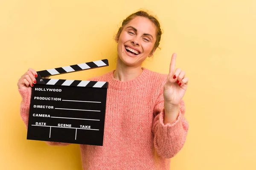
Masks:
[[[108,88],[108,82],[99,81],[82,81],[82,80],[66,80],[66,79],[44,79],[46,85],[64,85],[87,88]]]

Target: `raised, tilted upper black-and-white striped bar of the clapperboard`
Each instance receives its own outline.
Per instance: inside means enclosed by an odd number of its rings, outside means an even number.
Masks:
[[[48,70],[38,71],[38,74],[40,74],[41,77],[47,77],[47,76],[52,76],[56,74],[71,73],[74,71],[82,71],[82,70],[99,68],[104,66],[108,66],[108,59],[102,59],[102,60],[86,62],[86,63],[76,64],[76,65],[69,65],[69,66],[59,67],[59,68],[52,68]]]

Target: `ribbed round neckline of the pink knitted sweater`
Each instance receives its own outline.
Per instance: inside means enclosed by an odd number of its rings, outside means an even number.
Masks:
[[[119,89],[119,90],[125,90],[128,88],[135,88],[137,86],[142,85],[145,80],[149,77],[149,73],[150,71],[147,68],[142,67],[142,73],[129,81],[119,81],[117,79],[114,78],[114,70],[110,71],[107,74],[107,79],[108,79],[108,88],[115,88],[115,89]]]

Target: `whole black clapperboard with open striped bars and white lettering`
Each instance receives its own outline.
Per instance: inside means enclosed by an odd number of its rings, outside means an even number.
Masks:
[[[103,145],[108,82],[44,77],[108,66],[108,59],[38,71],[27,139]]]

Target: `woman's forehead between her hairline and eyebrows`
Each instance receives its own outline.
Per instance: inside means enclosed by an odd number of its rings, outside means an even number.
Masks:
[[[154,37],[156,36],[156,27],[154,23],[146,17],[137,16],[126,24],[125,28],[128,26],[136,28],[138,33],[146,33],[151,34]]]

